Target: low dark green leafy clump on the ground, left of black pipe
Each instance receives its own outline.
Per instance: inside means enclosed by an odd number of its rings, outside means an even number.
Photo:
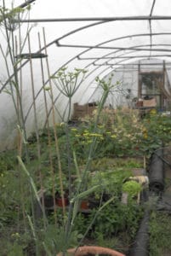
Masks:
[[[83,226],[80,226],[76,219],[74,228],[78,231],[83,230],[83,227],[88,226],[94,219],[94,224],[89,230],[87,238],[97,239],[100,234],[110,238],[119,236],[124,231],[128,233],[130,240],[134,239],[144,212],[143,208],[137,206],[134,201],[131,201],[128,206],[124,206],[117,198],[107,204],[98,214],[97,211],[98,208],[94,208],[87,216],[79,213],[78,219],[81,218]],[[94,216],[96,217],[94,218]]]

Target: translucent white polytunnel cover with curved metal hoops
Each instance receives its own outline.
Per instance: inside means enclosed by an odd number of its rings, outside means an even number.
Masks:
[[[159,0],[49,4],[38,0],[2,1],[5,14],[1,18],[1,148],[9,147],[16,133],[17,100],[11,85],[15,79],[22,94],[20,108],[28,134],[35,129],[34,112],[37,125],[46,124],[43,91],[49,83],[54,88],[54,103],[50,103],[47,92],[48,118],[52,119],[53,108],[55,122],[66,118],[66,96],[61,95],[51,79],[61,67],[87,70],[72,97],[72,112],[75,102],[97,102],[100,90],[95,78],[107,78],[111,73],[115,74],[113,79],[121,81],[126,95],[131,90],[137,96],[138,70],[145,64],[147,71],[150,67],[164,70],[169,87],[170,4]],[[131,78],[128,68],[132,70]],[[128,86],[130,81],[133,88]],[[117,94],[116,91],[114,95]],[[121,96],[108,98],[110,105],[122,103]]]

